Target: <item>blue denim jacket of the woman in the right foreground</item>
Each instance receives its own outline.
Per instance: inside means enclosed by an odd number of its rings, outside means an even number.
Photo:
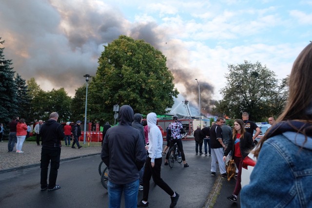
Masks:
[[[263,143],[250,184],[240,193],[242,208],[312,207],[312,137],[304,140],[284,132]]]

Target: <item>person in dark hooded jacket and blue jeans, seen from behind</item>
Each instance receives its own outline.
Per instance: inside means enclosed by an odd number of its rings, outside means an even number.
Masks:
[[[146,151],[142,134],[131,126],[133,109],[124,105],[118,113],[118,125],[107,130],[101,159],[109,169],[108,198],[110,207],[120,207],[121,195],[126,207],[137,207],[139,170],[144,165]]]

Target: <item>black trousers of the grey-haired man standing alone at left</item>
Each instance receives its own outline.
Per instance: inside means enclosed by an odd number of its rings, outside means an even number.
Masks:
[[[48,187],[48,189],[53,189],[57,182],[58,169],[59,169],[59,157],[60,157],[60,148],[52,149],[41,149],[41,173],[40,173],[40,185],[41,189]],[[48,169],[49,163],[51,160],[50,166],[50,175],[49,175],[49,185],[47,184],[48,179]]]

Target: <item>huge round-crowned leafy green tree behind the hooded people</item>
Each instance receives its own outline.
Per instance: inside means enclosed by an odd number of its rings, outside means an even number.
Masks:
[[[166,113],[178,92],[166,57],[144,40],[120,36],[104,46],[90,82],[91,120],[109,120],[113,106],[131,105],[136,113]],[[89,97],[89,96],[88,96]]]

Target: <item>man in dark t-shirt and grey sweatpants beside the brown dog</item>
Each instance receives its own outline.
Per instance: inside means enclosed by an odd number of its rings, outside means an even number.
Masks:
[[[225,163],[223,161],[224,149],[226,148],[222,141],[223,118],[217,118],[216,124],[210,128],[210,142],[211,142],[211,175],[215,176],[216,162],[218,162],[219,170],[222,178],[227,178],[225,170]]]

